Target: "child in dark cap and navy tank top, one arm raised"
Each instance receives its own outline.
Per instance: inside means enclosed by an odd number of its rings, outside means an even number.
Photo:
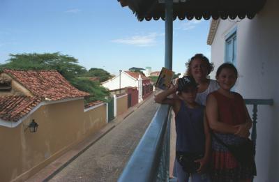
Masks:
[[[167,98],[176,91],[179,91],[178,98]],[[195,102],[196,96],[197,83],[195,79],[193,77],[183,77],[178,80],[174,87],[159,93],[155,97],[156,103],[169,104],[174,110],[176,154],[184,153],[185,158],[190,158],[193,155],[199,156],[200,154],[202,156],[195,159],[198,167],[193,172],[176,161],[176,174],[179,182],[188,181],[190,175],[192,181],[209,181],[209,176],[204,171],[206,164],[209,162],[211,138],[204,115],[204,107]],[[180,159],[179,161],[181,162]],[[195,164],[195,162],[193,163]]]

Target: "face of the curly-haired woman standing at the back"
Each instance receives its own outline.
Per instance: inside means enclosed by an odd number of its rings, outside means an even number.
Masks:
[[[197,79],[206,79],[208,70],[206,63],[201,59],[194,59],[190,64],[190,73]]]

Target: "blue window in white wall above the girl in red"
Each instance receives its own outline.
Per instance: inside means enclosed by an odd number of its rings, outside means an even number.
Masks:
[[[226,36],[225,41],[225,62],[233,63],[236,66],[236,29]]]

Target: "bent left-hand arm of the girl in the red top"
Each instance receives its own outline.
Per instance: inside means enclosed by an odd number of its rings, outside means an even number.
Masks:
[[[218,121],[218,105],[216,98],[209,94],[209,96],[206,99],[206,117],[209,121],[209,127],[212,130],[215,130],[217,132],[223,132],[223,133],[231,133],[234,134],[237,132],[237,128],[234,126],[231,126],[227,123],[221,123]]]

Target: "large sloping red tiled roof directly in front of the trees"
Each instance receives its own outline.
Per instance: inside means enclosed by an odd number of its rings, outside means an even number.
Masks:
[[[20,82],[35,96],[48,98],[50,100],[61,100],[65,98],[76,98],[89,96],[89,93],[80,91],[56,70],[10,70],[3,69],[17,82]]]

